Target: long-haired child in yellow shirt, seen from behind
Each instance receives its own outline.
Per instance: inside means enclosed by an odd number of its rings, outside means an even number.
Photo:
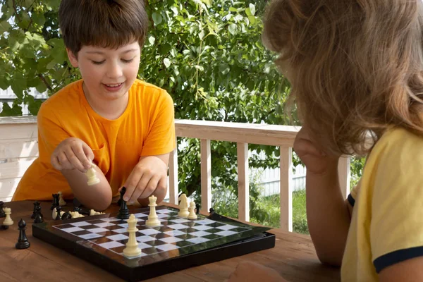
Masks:
[[[264,43],[303,125],[309,233],[342,281],[423,281],[422,26],[421,0],[274,0],[266,12]],[[367,154],[346,201],[341,154]],[[263,272],[240,266],[230,281],[275,281]]]

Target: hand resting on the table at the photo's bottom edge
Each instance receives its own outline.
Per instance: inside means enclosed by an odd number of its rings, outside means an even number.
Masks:
[[[274,269],[252,262],[240,262],[228,282],[286,282]]]

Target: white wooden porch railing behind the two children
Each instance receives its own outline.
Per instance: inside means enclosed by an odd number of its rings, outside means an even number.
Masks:
[[[292,231],[292,147],[300,128],[286,125],[177,120],[176,135],[200,139],[202,210],[212,207],[211,140],[237,143],[238,218],[250,220],[248,144],[278,146],[280,156],[281,228]],[[0,200],[10,200],[18,180],[38,155],[35,117],[0,118]],[[341,158],[339,180],[344,197],[350,187],[350,158]],[[169,161],[170,202],[178,203],[178,152]]]

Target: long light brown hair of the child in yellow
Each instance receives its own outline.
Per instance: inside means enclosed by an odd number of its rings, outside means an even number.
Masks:
[[[422,0],[273,0],[264,44],[281,56],[303,124],[335,153],[391,126],[423,135]]]

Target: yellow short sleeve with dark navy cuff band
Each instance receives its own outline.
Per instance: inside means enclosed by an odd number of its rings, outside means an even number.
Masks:
[[[369,219],[372,259],[378,273],[423,256],[423,139],[407,139],[386,146],[374,166]]]

